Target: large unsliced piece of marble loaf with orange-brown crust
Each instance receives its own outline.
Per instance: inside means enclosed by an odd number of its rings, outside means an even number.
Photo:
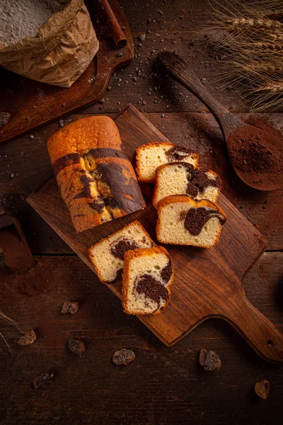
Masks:
[[[48,140],[62,198],[76,232],[145,207],[137,177],[107,116],[82,118]]]

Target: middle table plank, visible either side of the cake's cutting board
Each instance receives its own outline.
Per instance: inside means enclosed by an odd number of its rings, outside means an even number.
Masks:
[[[272,120],[276,128],[282,127],[282,113],[258,115]],[[82,116],[87,115],[72,115],[65,123]],[[115,118],[115,115],[110,116]],[[231,171],[221,132],[212,115],[150,113],[145,116],[171,142],[190,141],[190,147],[200,153],[200,165],[214,169],[221,176],[224,195],[265,236],[268,249],[283,249],[283,215],[278,208],[282,203],[283,191],[260,193],[238,179]],[[245,118],[247,115],[238,116]],[[21,137],[0,148],[0,193],[6,200],[7,210],[21,220],[28,242],[36,253],[70,252],[69,247],[25,202],[26,196],[52,174],[46,142],[58,129],[58,123],[53,123],[34,132],[33,139],[30,136]]]

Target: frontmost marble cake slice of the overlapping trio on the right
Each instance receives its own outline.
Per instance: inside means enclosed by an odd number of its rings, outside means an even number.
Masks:
[[[196,202],[188,196],[167,196],[157,204],[156,237],[163,244],[216,245],[226,215],[209,200]]]

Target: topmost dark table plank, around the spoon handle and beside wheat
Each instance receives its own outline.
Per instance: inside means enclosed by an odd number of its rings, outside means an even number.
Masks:
[[[230,8],[229,3],[224,0],[220,2]],[[204,38],[205,32],[200,33],[200,28],[212,20],[213,6],[218,5],[197,0],[180,0],[178,3],[160,3],[156,0],[130,3],[122,0],[120,4],[125,6],[124,12],[132,30],[136,57],[127,67],[117,70],[110,79],[111,89],[103,96],[105,103],[96,103],[86,111],[117,112],[119,108],[123,108],[120,103],[123,105],[124,98],[127,101],[130,98],[131,103],[143,112],[206,111],[202,103],[180,84],[173,80],[168,82],[163,73],[158,74],[155,59],[157,53],[163,50],[174,51],[183,56],[223,106],[248,111],[238,91],[231,89],[223,61],[212,59],[212,47],[209,47],[207,38]],[[151,20],[150,23],[147,22],[148,19]],[[147,33],[147,30],[151,32]],[[137,37],[143,33],[146,34],[146,40],[140,42]],[[206,34],[209,35],[209,31]]]

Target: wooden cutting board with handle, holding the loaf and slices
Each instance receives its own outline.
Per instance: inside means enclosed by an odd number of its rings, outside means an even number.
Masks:
[[[166,137],[131,105],[115,122],[120,130],[125,153],[132,161],[139,145],[167,141]],[[133,220],[139,220],[156,240],[156,210],[150,199],[144,210],[81,234],[76,234],[71,224],[69,212],[54,178],[30,196],[28,203],[92,270],[88,260],[88,248],[100,238]],[[227,215],[219,244],[212,249],[167,245],[175,268],[171,302],[161,314],[139,316],[139,319],[164,344],[170,346],[180,341],[205,319],[220,317],[229,322],[262,358],[275,363],[283,362],[282,334],[250,304],[242,287],[243,276],[265,250],[266,241],[222,195],[219,196],[219,205]],[[121,297],[121,283],[108,287]]]

